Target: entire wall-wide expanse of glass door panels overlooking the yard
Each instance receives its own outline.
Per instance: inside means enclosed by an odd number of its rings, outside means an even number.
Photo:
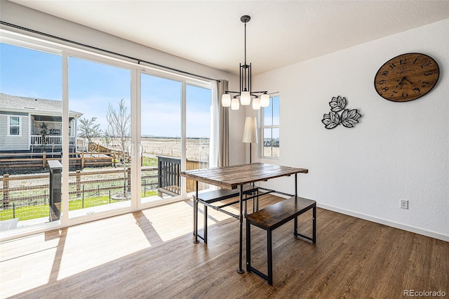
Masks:
[[[1,39],[0,220],[67,225],[192,191],[179,171],[208,167],[210,81],[20,34]],[[51,180],[56,161],[62,175]]]

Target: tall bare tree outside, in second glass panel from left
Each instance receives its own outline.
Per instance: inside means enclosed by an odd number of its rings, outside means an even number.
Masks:
[[[127,112],[125,100],[121,99],[119,109],[114,109],[111,104],[107,109],[106,119],[108,122],[107,133],[111,138],[112,143],[118,143],[121,151],[121,161],[123,163],[123,172],[125,175],[123,185],[123,195],[126,195],[126,151],[130,145],[130,121],[131,115]],[[128,178],[129,180],[129,178]]]

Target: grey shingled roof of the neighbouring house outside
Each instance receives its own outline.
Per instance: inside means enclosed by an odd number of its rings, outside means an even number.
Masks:
[[[60,115],[62,114],[62,101],[46,100],[40,98],[26,98],[17,95],[0,93],[0,110],[9,112],[29,112],[32,114]],[[81,112],[69,110],[71,117],[81,117]]]

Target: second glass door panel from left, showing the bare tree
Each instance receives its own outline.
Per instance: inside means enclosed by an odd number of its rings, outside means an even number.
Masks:
[[[131,202],[130,69],[69,57],[69,218]]]

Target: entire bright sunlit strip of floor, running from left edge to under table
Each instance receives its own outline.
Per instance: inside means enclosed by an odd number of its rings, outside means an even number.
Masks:
[[[220,204],[220,203],[218,203]],[[236,209],[228,207],[236,213]],[[192,201],[36,234],[0,244],[0,298],[29,291],[192,234]],[[208,209],[208,225],[231,218]],[[199,230],[203,205],[199,205]],[[119,270],[119,264],[117,264]]]

